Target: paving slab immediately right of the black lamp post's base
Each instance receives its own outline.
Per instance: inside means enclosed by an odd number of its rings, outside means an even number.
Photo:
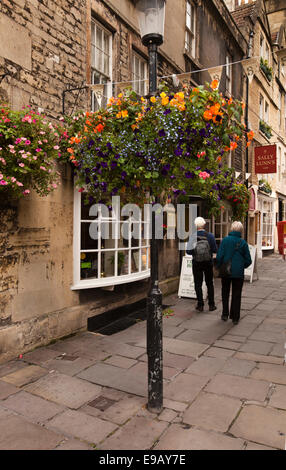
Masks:
[[[208,382],[208,377],[182,373],[164,387],[164,397],[190,403]]]

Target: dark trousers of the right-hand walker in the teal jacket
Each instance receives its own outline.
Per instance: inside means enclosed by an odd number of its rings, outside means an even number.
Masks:
[[[232,292],[229,311],[230,287],[232,287]],[[222,314],[229,316],[232,320],[240,318],[242,287],[243,279],[222,278],[221,280]]]

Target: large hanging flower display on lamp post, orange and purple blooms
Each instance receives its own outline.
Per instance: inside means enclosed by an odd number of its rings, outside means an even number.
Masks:
[[[75,166],[79,191],[89,203],[113,195],[144,203],[146,192],[168,197],[199,194],[209,213],[234,192],[234,171],[224,158],[244,138],[243,105],[227,100],[217,81],[184,92],[163,86],[150,102],[131,90],[107,109],[77,116],[63,158]],[[246,208],[246,204],[243,205]]]

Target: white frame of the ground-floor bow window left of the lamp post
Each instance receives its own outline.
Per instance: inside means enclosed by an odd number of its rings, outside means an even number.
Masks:
[[[79,289],[92,289],[96,287],[107,287],[107,286],[114,286],[114,285],[119,285],[119,284],[126,284],[129,282],[135,282],[135,281],[140,281],[142,279],[147,279],[150,277],[150,240],[145,240],[145,243],[143,239],[141,238],[142,234],[142,226],[143,224],[147,224],[146,231],[145,233],[148,233],[149,230],[149,224],[150,221],[147,219],[146,221],[140,220],[139,223],[140,230],[139,230],[139,240],[138,240],[138,246],[132,247],[132,239],[131,239],[131,229],[129,230],[129,239],[128,239],[128,247],[120,247],[118,242],[119,242],[119,237],[118,234],[120,233],[120,224],[122,222],[126,222],[126,220],[121,220],[120,216],[116,218],[110,217],[103,217],[99,215],[97,219],[95,219],[97,222],[102,221],[102,222],[108,222],[108,223],[113,223],[114,224],[114,230],[115,234],[117,236],[115,237],[114,240],[114,248],[102,248],[101,246],[101,227],[102,224],[99,224],[99,235],[98,235],[98,244],[97,248],[95,249],[81,249],[81,224],[82,223],[94,223],[95,220],[93,221],[92,219],[88,220],[83,220],[81,219],[81,196],[82,193],[78,191],[77,188],[74,189],[74,238],[73,238],[73,285],[71,287],[72,290],[79,290]],[[120,215],[120,209],[117,208],[116,211],[113,211],[113,214],[118,213]],[[128,221],[128,223],[133,223],[131,220]],[[144,250],[144,251],[143,251]],[[128,254],[128,274],[118,274],[118,266],[117,266],[117,256],[114,256],[114,275],[113,276],[108,276],[108,277],[102,277],[101,276],[101,260],[102,260],[102,254],[104,253],[111,253],[114,252],[114,255],[118,252],[126,252]],[[136,272],[132,273],[132,252],[139,252],[139,257],[138,257],[138,270]],[[146,252],[146,269],[144,269],[144,266],[142,265],[142,255]],[[97,276],[88,278],[88,279],[81,279],[81,254],[82,253],[97,253],[98,254],[98,259],[97,259]],[[134,260],[134,258],[133,258]]]

